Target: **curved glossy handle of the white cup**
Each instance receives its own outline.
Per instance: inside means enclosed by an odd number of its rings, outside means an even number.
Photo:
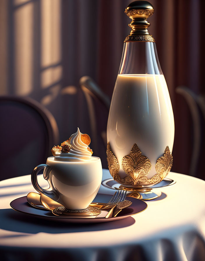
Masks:
[[[41,188],[41,186],[38,184],[38,180],[37,180],[37,175],[38,173],[44,169],[44,177],[49,177],[47,175],[47,172],[49,171],[50,169],[50,166],[47,165],[47,164],[40,164],[38,165],[37,167],[35,167],[35,169],[33,170],[32,174],[31,174],[31,182],[32,182],[32,185],[33,187],[40,193],[40,194],[44,194],[48,197],[55,197],[55,192],[53,190],[49,190],[50,188]],[[50,184],[49,184],[50,185]]]

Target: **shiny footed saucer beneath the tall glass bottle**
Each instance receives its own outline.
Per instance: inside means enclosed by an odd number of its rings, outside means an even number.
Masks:
[[[133,197],[133,198],[141,199],[141,200],[152,200],[154,198],[160,197],[162,195],[160,188],[166,188],[166,187],[174,185],[175,183],[176,183],[175,180],[165,178],[158,184],[155,184],[148,188],[144,188],[144,187],[130,188],[130,187],[126,187],[126,186],[119,184],[117,181],[115,181],[112,178],[105,179],[104,181],[102,181],[102,185],[106,188],[112,188],[114,190],[116,190],[116,189],[126,190],[128,197]]]

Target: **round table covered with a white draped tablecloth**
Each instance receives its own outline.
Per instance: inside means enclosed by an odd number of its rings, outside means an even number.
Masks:
[[[39,183],[47,185],[39,175]],[[110,178],[103,170],[103,179]],[[176,184],[145,211],[99,224],[41,220],[10,208],[35,191],[31,176],[0,182],[1,260],[205,260],[205,181],[170,172]],[[101,185],[99,193],[114,194]],[[3,259],[2,259],[3,258]]]

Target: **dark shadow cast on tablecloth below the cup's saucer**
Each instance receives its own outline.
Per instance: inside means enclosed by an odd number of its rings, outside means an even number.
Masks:
[[[19,213],[13,209],[0,209],[0,228],[3,230],[22,232],[29,234],[45,233],[73,233],[110,230],[124,228],[135,223],[135,219],[128,217],[106,223],[69,224],[65,222],[53,222]]]

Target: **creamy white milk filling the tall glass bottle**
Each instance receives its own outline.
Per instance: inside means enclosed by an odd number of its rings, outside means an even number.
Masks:
[[[137,143],[151,161],[148,178],[156,174],[155,164],[166,146],[172,153],[174,115],[164,75],[118,75],[107,123],[107,142],[116,156],[123,178],[122,158]]]

